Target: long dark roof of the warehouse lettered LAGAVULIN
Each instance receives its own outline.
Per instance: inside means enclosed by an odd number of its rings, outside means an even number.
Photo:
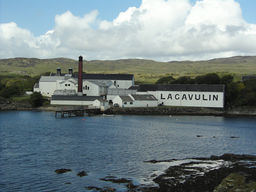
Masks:
[[[147,91],[203,91],[224,92],[225,85],[179,85],[179,84],[140,84],[138,92]]]

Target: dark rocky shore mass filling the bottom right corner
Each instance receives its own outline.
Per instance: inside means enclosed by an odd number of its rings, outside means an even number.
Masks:
[[[166,160],[170,161],[176,160]],[[221,164],[213,168],[211,165],[216,162]],[[153,160],[153,163],[158,161]],[[201,164],[206,166],[200,166]],[[256,156],[224,154],[210,158],[192,158],[189,163],[169,167],[153,181],[159,187],[145,187],[141,191],[256,192]]]

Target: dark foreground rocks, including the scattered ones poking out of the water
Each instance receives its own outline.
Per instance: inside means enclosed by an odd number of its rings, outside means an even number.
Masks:
[[[127,192],[256,192],[256,155],[224,154],[213,155],[210,158],[150,160],[144,163],[162,162],[174,162],[174,165],[169,166],[160,175],[150,176],[156,185],[135,186],[130,178],[118,178],[118,176],[107,176],[99,180],[106,181],[106,186],[109,182],[126,186]],[[55,170],[57,174],[68,171],[72,170]],[[82,176],[89,176],[90,170],[82,171],[77,176],[81,176],[81,173]],[[85,186],[85,188],[93,192],[117,191],[113,187]]]

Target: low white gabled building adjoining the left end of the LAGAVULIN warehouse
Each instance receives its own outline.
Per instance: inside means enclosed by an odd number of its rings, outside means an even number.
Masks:
[[[153,95],[116,96],[113,103],[119,107],[157,107],[158,100]]]

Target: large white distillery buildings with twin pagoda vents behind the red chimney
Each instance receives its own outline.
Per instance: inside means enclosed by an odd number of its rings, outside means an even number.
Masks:
[[[35,84],[34,91],[40,92],[43,96],[53,96],[54,94],[73,95],[78,91],[78,74],[73,74],[69,68],[69,74],[61,74],[61,69],[57,68],[57,73],[50,76],[41,76],[39,83]],[[107,96],[108,87],[120,87],[127,89],[134,85],[134,75],[127,74],[83,74],[83,95],[85,96]]]

